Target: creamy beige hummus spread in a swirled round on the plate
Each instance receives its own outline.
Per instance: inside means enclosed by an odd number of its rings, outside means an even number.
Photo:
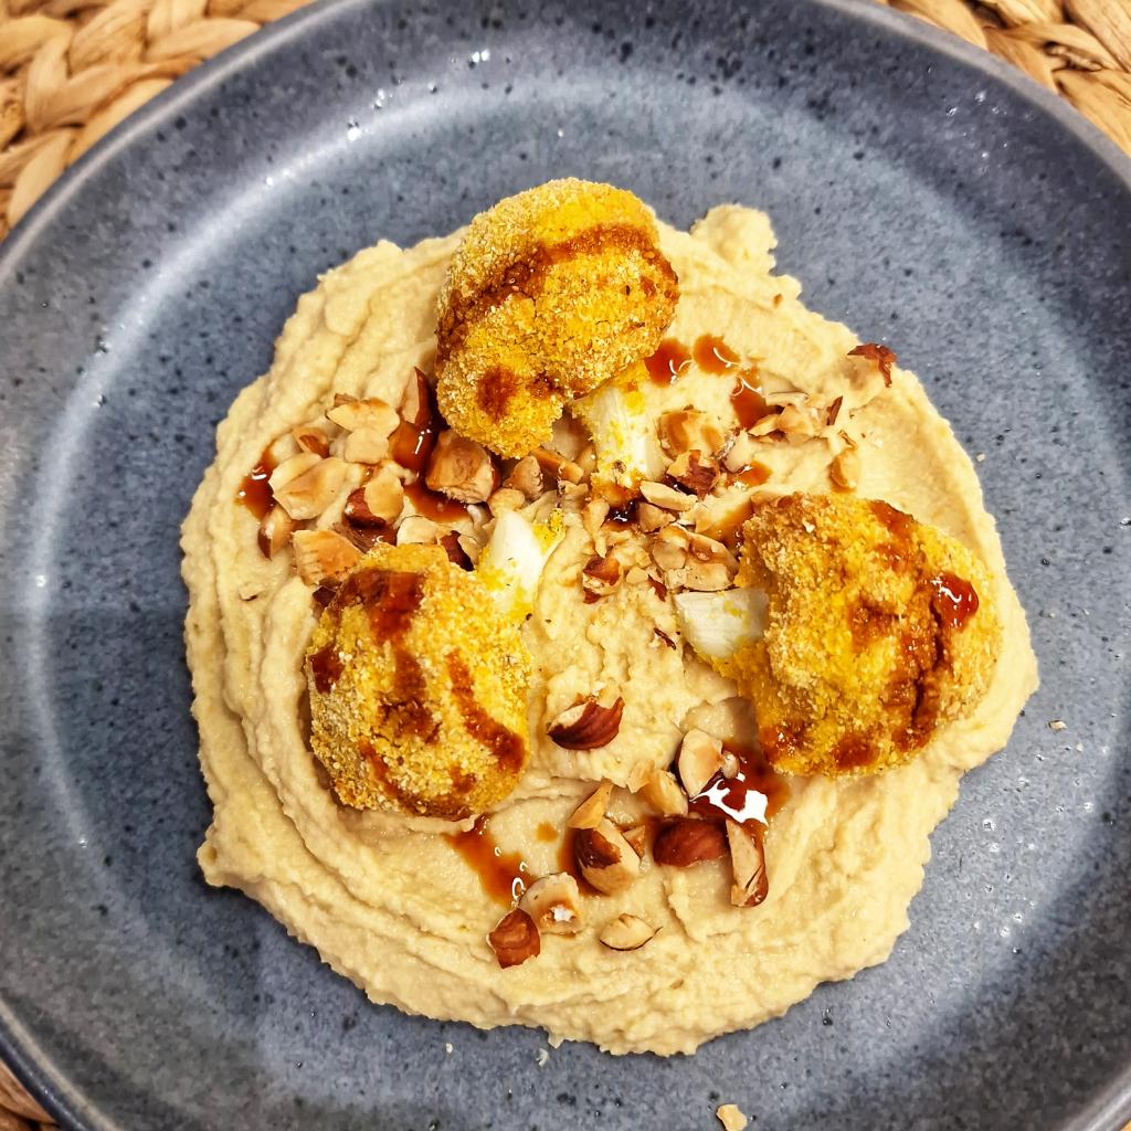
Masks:
[[[741,745],[757,727],[735,683],[689,647],[662,586],[625,579],[586,599],[594,536],[580,507],[559,506],[554,493],[523,508],[534,523],[556,512],[563,536],[521,627],[529,761],[489,830],[470,815],[352,809],[329,787],[311,751],[304,671],[321,612],[316,587],[296,576],[290,550],[265,555],[257,515],[238,497],[247,502],[261,485],[265,452],[270,461],[301,457],[302,428],[325,420],[336,395],[397,406],[414,370],[431,373],[438,295],[459,240],[407,250],[381,242],[325,275],[287,321],[269,372],[219,425],[216,461],[183,529],[193,714],[215,810],[200,866],[209,883],[261,903],[377,1003],[483,1028],[541,1027],[612,1053],[690,1053],[888,957],[961,775],[1001,749],[1036,687],[1025,614],[947,422],[913,374],[896,368],[888,386],[874,356],[849,355],[858,342],[846,327],[806,310],[798,283],[774,274],[768,218],[726,206],[690,234],[659,225],[679,278],[662,351],[674,359],[674,379],[640,382],[638,411],[655,423],[693,406],[735,430],[728,366],[737,362],[728,359],[757,364],[763,392],[836,404],[851,417],[840,439],[753,438],[766,482],[749,490],[827,494],[851,450],[856,494],[939,528],[984,563],[1000,656],[976,707],[941,726],[914,760],[867,776],[775,778],[762,840],[768,895],[758,906],[732,905],[725,858],[679,869],[645,854],[630,886],[580,897],[580,930],[544,933],[535,959],[503,968],[487,934],[511,906],[510,884],[562,871],[567,822],[598,783],[614,787],[612,822],[630,827],[647,810],[633,791],[671,765],[685,732]],[[719,364],[684,359],[675,345],[690,355],[706,336],[725,343]],[[572,432],[568,420],[555,426],[560,450],[576,443]],[[361,483],[359,463],[339,463],[312,530],[340,523]],[[257,465],[260,477],[249,481]],[[428,509],[406,498],[406,513]],[[440,524],[474,542],[489,520],[473,506]],[[550,737],[578,701],[611,696],[622,700],[611,741],[567,749]],[[649,924],[645,946],[618,951],[599,941],[622,915]]]

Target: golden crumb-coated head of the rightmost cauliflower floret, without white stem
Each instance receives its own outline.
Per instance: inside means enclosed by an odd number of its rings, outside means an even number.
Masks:
[[[779,770],[865,774],[909,761],[990,684],[1002,629],[986,567],[886,502],[758,503],[737,581],[766,590],[768,625],[725,666]]]

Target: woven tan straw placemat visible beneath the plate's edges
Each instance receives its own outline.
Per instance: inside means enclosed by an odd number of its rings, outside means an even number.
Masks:
[[[140,105],[305,2],[0,0],[0,239]],[[1131,0],[879,2],[1000,55],[1131,154]],[[0,1131],[45,1120],[0,1064]]]

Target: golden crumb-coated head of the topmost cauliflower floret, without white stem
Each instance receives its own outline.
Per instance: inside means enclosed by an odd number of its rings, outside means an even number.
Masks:
[[[508,197],[472,221],[440,291],[440,412],[525,456],[568,402],[656,349],[677,299],[631,192],[569,179]]]

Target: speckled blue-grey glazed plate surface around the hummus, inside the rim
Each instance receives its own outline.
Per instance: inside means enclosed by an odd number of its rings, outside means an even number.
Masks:
[[[146,107],[0,249],[0,1031],[67,1123],[1128,1115],[1128,163],[871,5],[619,7],[308,9]],[[178,526],[215,422],[320,270],[562,174],[682,225],[770,211],[808,302],[887,339],[985,454],[1042,661],[890,961],[693,1059],[567,1045],[539,1068],[537,1033],[373,1008],[193,861]]]

